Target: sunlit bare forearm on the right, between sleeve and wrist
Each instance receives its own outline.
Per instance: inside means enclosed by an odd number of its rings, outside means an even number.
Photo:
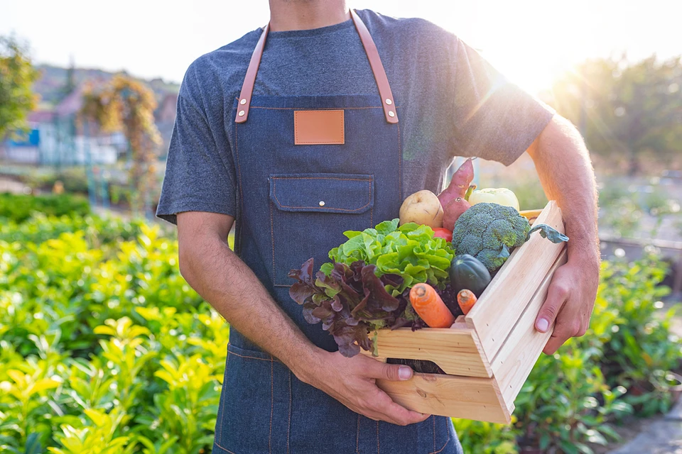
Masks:
[[[529,148],[545,193],[563,213],[568,258],[598,262],[597,190],[583,138],[573,125],[555,116]]]

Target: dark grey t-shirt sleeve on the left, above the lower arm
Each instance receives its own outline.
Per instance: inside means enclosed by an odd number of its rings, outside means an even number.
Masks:
[[[183,84],[188,83],[187,77]],[[194,99],[193,99],[194,98]],[[222,102],[222,101],[221,101]],[[182,87],[168,148],[156,216],[177,223],[183,211],[236,214],[235,172],[229,141],[201,96]],[[217,109],[222,112],[222,106]],[[213,118],[213,121],[210,120]]]

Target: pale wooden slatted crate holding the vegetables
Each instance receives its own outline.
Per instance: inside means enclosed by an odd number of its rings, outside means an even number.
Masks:
[[[542,211],[521,214],[564,232],[554,201]],[[536,331],[536,316],[554,271],[566,260],[565,243],[553,244],[534,233],[452,328],[379,330],[377,360],[430,360],[447,375],[415,373],[406,382],[377,380],[378,386],[395,402],[421,413],[511,422],[514,399],[553,329]]]

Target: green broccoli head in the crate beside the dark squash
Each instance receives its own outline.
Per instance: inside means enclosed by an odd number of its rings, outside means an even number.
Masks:
[[[453,248],[480,260],[489,272],[499,270],[513,248],[526,242],[531,225],[511,206],[475,204],[455,223]]]

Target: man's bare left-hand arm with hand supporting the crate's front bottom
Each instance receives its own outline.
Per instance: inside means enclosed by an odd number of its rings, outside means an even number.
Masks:
[[[299,380],[357,413],[406,425],[428,415],[409,411],[374,384],[377,378],[408,380],[412,370],[364,355],[345,358],[308,341],[270,297],[259,279],[227,245],[234,218],[188,211],[178,214],[180,272],[239,333],[281,360]]]

